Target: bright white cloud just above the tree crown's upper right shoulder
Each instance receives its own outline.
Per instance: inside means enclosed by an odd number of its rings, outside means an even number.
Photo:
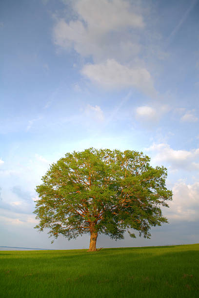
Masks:
[[[146,150],[156,152],[154,162],[159,164],[166,162],[172,169],[183,168],[190,171],[199,169],[199,148],[190,151],[174,150],[168,144],[160,143],[153,144]]]

